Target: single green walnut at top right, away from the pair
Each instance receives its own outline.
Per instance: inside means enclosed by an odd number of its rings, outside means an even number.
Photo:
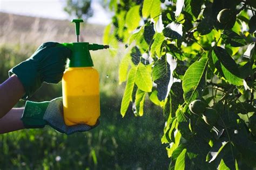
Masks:
[[[221,24],[235,23],[237,16],[231,9],[223,9],[218,13],[217,19]]]

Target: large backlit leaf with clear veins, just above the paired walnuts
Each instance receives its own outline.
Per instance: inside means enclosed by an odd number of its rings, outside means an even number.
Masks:
[[[184,77],[182,88],[184,100],[187,104],[198,99],[203,95],[206,80],[207,58],[202,58],[188,67]]]

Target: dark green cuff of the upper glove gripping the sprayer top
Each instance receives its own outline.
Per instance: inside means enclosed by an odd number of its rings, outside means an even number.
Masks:
[[[25,89],[25,95],[22,97],[24,100],[32,96],[42,84],[34,65],[32,60],[26,60],[9,70],[9,76],[15,74]]]

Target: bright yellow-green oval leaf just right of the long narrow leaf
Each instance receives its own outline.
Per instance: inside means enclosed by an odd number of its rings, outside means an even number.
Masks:
[[[149,69],[146,68],[145,65],[142,63],[139,63],[136,76],[135,76],[135,83],[138,86],[139,89],[151,92],[153,83],[151,78],[151,73],[149,72]]]

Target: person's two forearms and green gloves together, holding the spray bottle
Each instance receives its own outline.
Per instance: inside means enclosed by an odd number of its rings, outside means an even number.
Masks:
[[[45,42],[29,59],[9,70],[10,78],[0,84],[0,133],[50,125],[61,133],[71,134],[88,131],[99,124],[66,126],[62,97],[46,102],[26,101],[24,109],[11,109],[20,98],[27,100],[32,96],[43,82],[62,80],[69,56],[69,48],[58,42]]]

